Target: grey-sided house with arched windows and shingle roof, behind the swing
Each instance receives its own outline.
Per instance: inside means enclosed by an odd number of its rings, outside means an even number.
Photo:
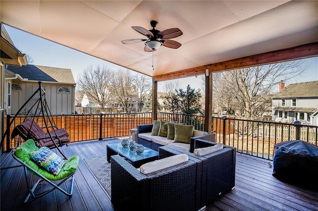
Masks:
[[[47,104],[52,114],[73,114],[75,105],[75,86],[71,69],[47,67],[39,65],[7,66],[11,77],[11,108],[8,114],[16,114],[18,109],[39,88],[42,82]],[[12,77],[14,76],[14,77]],[[25,112],[35,103],[37,97],[22,111]],[[32,113],[35,113],[32,109]]]

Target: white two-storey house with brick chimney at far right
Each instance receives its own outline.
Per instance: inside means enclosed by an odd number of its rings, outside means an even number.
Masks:
[[[279,93],[273,96],[272,119],[292,123],[307,120],[318,125],[318,81],[290,84],[280,83]]]

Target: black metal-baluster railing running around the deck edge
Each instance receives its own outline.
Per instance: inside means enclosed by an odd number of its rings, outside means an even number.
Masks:
[[[11,118],[13,116],[7,115],[5,122]],[[10,127],[7,124],[8,134],[24,118],[17,116]],[[204,131],[204,116],[159,112],[157,119],[194,125],[196,130]],[[54,115],[53,120],[58,128],[67,130],[71,142],[78,142],[129,136],[130,129],[137,125],[151,124],[152,113]],[[37,122],[44,127],[41,117]],[[239,153],[266,159],[272,159],[274,145],[280,142],[303,140],[318,145],[318,126],[312,125],[213,117],[212,130],[216,142],[236,147]],[[10,150],[16,144],[16,139],[6,136],[3,150]]]

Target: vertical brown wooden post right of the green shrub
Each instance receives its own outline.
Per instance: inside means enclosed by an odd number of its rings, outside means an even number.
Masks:
[[[212,132],[212,74],[206,70],[205,74],[205,113],[204,131]]]

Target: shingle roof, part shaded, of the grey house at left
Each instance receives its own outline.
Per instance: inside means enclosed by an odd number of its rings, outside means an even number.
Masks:
[[[8,65],[7,69],[19,74],[22,78],[32,81],[47,81],[75,84],[72,70],[57,67],[39,65],[13,66]]]

